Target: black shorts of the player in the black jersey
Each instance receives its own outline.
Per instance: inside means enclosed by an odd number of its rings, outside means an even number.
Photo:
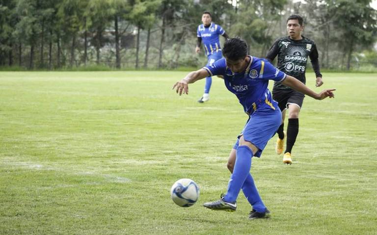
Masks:
[[[301,109],[304,97],[304,94],[292,89],[272,89],[272,99],[279,103],[278,105],[281,111],[288,108],[288,104],[296,104]]]

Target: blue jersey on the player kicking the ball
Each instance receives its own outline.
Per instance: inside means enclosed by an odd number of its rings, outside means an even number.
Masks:
[[[206,66],[210,76],[223,75],[226,88],[235,94],[243,110],[251,115],[262,107],[275,109],[268,89],[269,79],[282,81],[286,74],[275,68],[266,59],[248,56],[250,62],[242,73],[233,73],[227,66],[225,58],[217,60],[212,66]]]

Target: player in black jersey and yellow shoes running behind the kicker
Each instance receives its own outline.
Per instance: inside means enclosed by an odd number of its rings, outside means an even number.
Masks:
[[[301,35],[303,28],[303,19],[301,16],[292,15],[288,17],[288,36],[277,39],[267,53],[266,58],[272,62],[277,56],[277,68],[305,84],[306,65],[308,57],[310,57],[317,77],[316,86],[321,86],[323,81],[318,62],[317,47],[312,40]],[[286,109],[289,110],[287,147],[284,152],[283,162],[292,164],[292,147],[296,142],[298,134],[298,114],[302,107],[304,95],[275,81],[272,89],[272,97],[279,103],[279,108],[283,116],[282,124],[277,131],[278,139],[275,149],[277,154],[283,152],[285,138],[284,118]]]

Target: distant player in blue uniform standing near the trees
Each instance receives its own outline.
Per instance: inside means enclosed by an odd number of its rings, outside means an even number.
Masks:
[[[220,41],[219,35],[224,36],[225,38],[229,38],[229,36],[225,33],[224,29],[221,26],[216,25],[212,22],[211,13],[208,11],[203,12],[202,14],[202,22],[196,31],[198,41],[196,43],[195,52],[199,53],[200,45],[203,42],[203,47],[206,52],[208,63],[207,65],[212,65],[215,61],[221,59],[221,48],[220,48]],[[210,99],[210,89],[212,84],[212,77],[209,76],[206,78],[206,85],[204,87],[204,94],[198,100],[199,103],[206,102]]]

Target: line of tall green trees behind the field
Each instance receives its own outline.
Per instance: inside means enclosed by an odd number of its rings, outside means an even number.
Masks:
[[[286,35],[286,18],[305,19],[324,68],[377,67],[377,11],[371,0],[0,0],[0,66],[59,69],[197,67],[196,27],[204,11],[228,35],[264,57]]]

